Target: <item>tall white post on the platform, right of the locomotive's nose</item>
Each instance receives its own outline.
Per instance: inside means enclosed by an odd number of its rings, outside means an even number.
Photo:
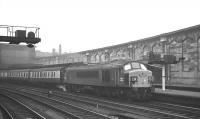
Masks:
[[[162,44],[162,49],[163,49],[163,57],[166,55],[167,51],[167,39],[166,38],[160,38],[160,43]],[[166,64],[164,63],[162,66],[162,90],[165,91],[165,81],[166,81]]]

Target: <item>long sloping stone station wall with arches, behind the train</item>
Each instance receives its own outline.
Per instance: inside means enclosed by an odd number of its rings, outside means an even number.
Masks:
[[[200,25],[114,46],[36,58],[35,63],[45,65],[80,61],[102,63],[116,59],[145,62],[150,51],[161,56],[174,55],[177,60],[184,58],[176,64],[167,65],[167,85],[200,86]],[[161,83],[161,79],[157,82]]]

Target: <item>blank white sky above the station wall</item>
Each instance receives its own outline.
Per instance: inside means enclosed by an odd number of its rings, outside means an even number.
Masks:
[[[199,0],[0,0],[0,25],[40,27],[36,50],[79,52],[200,24]]]

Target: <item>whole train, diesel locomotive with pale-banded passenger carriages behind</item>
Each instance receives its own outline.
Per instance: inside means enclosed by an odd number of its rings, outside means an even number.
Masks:
[[[152,72],[142,63],[116,60],[101,64],[68,64],[0,70],[1,81],[28,82],[91,91],[98,95],[151,97]]]

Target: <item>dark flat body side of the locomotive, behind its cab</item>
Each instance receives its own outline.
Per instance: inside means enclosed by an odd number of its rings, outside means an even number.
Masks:
[[[69,84],[115,86],[114,71],[111,69],[70,70],[67,75],[64,82]]]

